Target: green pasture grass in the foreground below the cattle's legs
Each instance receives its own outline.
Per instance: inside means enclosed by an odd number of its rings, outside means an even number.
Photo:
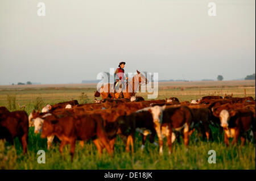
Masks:
[[[52,149],[47,150],[47,140],[40,138],[40,134],[34,134],[32,129],[30,128],[27,155],[22,154],[22,147],[18,139],[15,139],[18,157],[8,169],[255,169],[255,144],[246,142],[245,146],[238,144],[226,147],[223,135],[218,134],[215,128],[213,142],[203,141],[201,138],[195,141],[197,133],[193,133],[189,148],[185,147],[183,141],[175,141],[171,155],[168,154],[166,139],[163,155],[159,155],[159,146],[150,144],[149,141],[141,151],[139,134],[136,135],[134,154],[127,153],[121,138],[117,137],[113,157],[106,150],[99,157],[92,141],[86,142],[84,148],[77,142],[73,162],[69,155],[69,145],[63,149],[63,158],[59,153],[59,144],[54,144]],[[46,151],[46,163],[37,162],[38,150]],[[216,151],[216,163],[208,163],[209,150]]]

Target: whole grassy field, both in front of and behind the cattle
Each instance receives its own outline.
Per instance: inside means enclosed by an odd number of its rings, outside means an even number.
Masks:
[[[0,86],[0,106],[9,107],[8,95],[15,96],[15,110],[24,109],[28,114],[36,105],[59,103],[71,99],[79,103],[93,102],[96,84],[88,85],[31,85],[31,86]],[[82,94],[84,92],[84,94]],[[171,96],[179,100],[199,99],[205,95],[225,95],[243,97],[253,96],[255,99],[255,81],[210,81],[210,82],[160,82],[158,99]],[[81,95],[86,95],[83,99]],[[137,95],[147,99],[146,93]],[[38,99],[40,98],[40,99]],[[39,101],[40,100],[40,101]],[[22,105],[24,108],[20,108]],[[230,146],[226,148],[224,135],[213,130],[213,142],[195,141],[197,132],[192,134],[187,150],[181,142],[174,143],[174,151],[168,155],[168,148],[164,146],[164,154],[160,156],[159,147],[146,142],[143,152],[140,150],[141,137],[137,134],[134,154],[125,152],[125,145],[119,137],[115,143],[114,156],[104,151],[98,157],[96,146],[88,141],[84,148],[76,145],[73,163],[69,156],[69,146],[65,146],[65,159],[61,158],[59,146],[47,150],[47,140],[34,134],[30,128],[28,140],[28,154],[22,155],[22,148],[15,139],[15,148],[8,143],[0,142],[0,168],[1,169],[255,169],[255,144],[246,142],[245,146]],[[157,138],[156,138],[157,141]],[[46,151],[46,163],[39,164],[38,150]],[[208,151],[216,151],[216,163],[208,163]]]

